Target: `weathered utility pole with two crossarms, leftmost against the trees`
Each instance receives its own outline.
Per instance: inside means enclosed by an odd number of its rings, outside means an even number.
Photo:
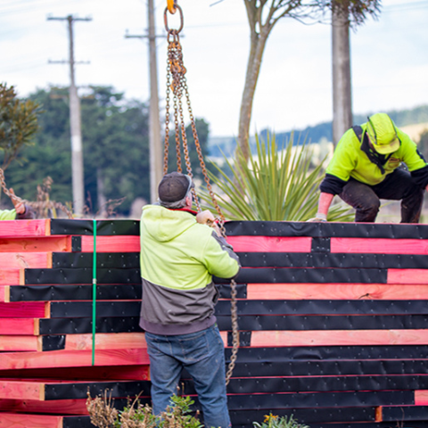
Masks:
[[[76,86],[74,66],[73,21],[92,21],[92,18],[76,18],[68,15],[65,18],[48,17],[48,21],[68,21],[69,23],[69,61],[70,64],[70,140],[71,140],[71,176],[73,185],[73,207],[78,216],[83,215],[85,205],[85,181],[83,174],[82,129],[80,119],[80,100]],[[51,62],[53,63],[53,62]],[[55,62],[55,63],[64,63]]]

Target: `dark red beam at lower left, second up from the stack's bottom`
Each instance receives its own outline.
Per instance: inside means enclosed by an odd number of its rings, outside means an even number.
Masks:
[[[55,401],[0,399],[0,412],[39,413],[50,415],[88,415],[86,399],[56,399]]]

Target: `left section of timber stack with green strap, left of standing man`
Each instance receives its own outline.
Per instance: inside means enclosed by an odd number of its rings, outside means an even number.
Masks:
[[[0,427],[86,427],[86,394],[119,406],[143,391],[134,220],[0,222]],[[93,263],[96,243],[96,334]]]

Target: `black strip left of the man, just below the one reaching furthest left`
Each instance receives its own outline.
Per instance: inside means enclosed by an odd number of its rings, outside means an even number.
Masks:
[[[91,317],[92,301],[53,301],[51,318]],[[96,301],[97,317],[139,317],[139,301]]]

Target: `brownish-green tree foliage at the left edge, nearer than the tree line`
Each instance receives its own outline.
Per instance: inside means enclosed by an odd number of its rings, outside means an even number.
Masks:
[[[20,100],[13,86],[0,84],[0,150],[6,169],[21,150],[33,144],[40,115],[38,103]]]

